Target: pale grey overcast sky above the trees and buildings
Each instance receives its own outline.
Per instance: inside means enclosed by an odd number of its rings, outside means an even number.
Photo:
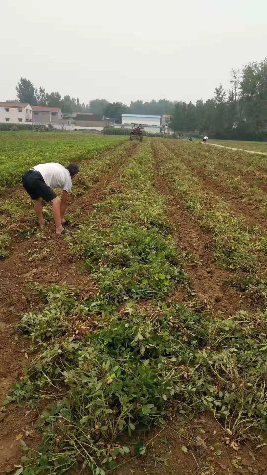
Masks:
[[[266,0],[0,0],[0,101],[47,92],[195,102],[267,56]]]

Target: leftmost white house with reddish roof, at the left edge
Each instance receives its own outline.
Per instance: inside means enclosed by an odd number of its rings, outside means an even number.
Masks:
[[[0,102],[0,122],[31,123],[32,108],[26,102]]]

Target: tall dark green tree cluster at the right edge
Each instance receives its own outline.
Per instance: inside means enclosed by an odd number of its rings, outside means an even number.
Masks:
[[[218,139],[267,140],[267,58],[232,69],[229,82],[228,91],[220,84],[206,102],[176,103],[172,129]]]

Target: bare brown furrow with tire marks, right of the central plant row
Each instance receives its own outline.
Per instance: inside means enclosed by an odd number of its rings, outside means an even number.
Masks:
[[[235,288],[224,283],[229,279],[230,273],[220,270],[212,262],[212,252],[207,248],[211,237],[193,221],[189,212],[184,209],[183,201],[176,194],[174,196],[175,192],[171,190],[161,171],[164,162],[156,153],[154,157],[155,187],[168,200],[167,216],[175,226],[172,237],[178,247],[193,251],[202,263],[202,266],[197,264],[185,266],[197,297],[201,301],[207,299],[213,307],[213,312],[215,314],[221,312],[223,317],[228,317],[240,309],[254,312],[250,305],[240,303],[240,293]]]

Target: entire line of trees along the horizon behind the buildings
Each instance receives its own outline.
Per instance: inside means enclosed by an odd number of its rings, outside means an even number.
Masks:
[[[267,140],[267,58],[254,61],[242,69],[232,69],[230,88],[220,84],[207,101],[176,102],[131,101],[110,103],[106,99],[93,99],[80,103],[79,98],[58,92],[47,93],[45,88],[34,87],[27,78],[16,85],[17,99],[31,105],[60,107],[63,113],[90,112],[121,122],[121,115],[170,114],[170,125],[175,132],[207,134],[214,138]]]

